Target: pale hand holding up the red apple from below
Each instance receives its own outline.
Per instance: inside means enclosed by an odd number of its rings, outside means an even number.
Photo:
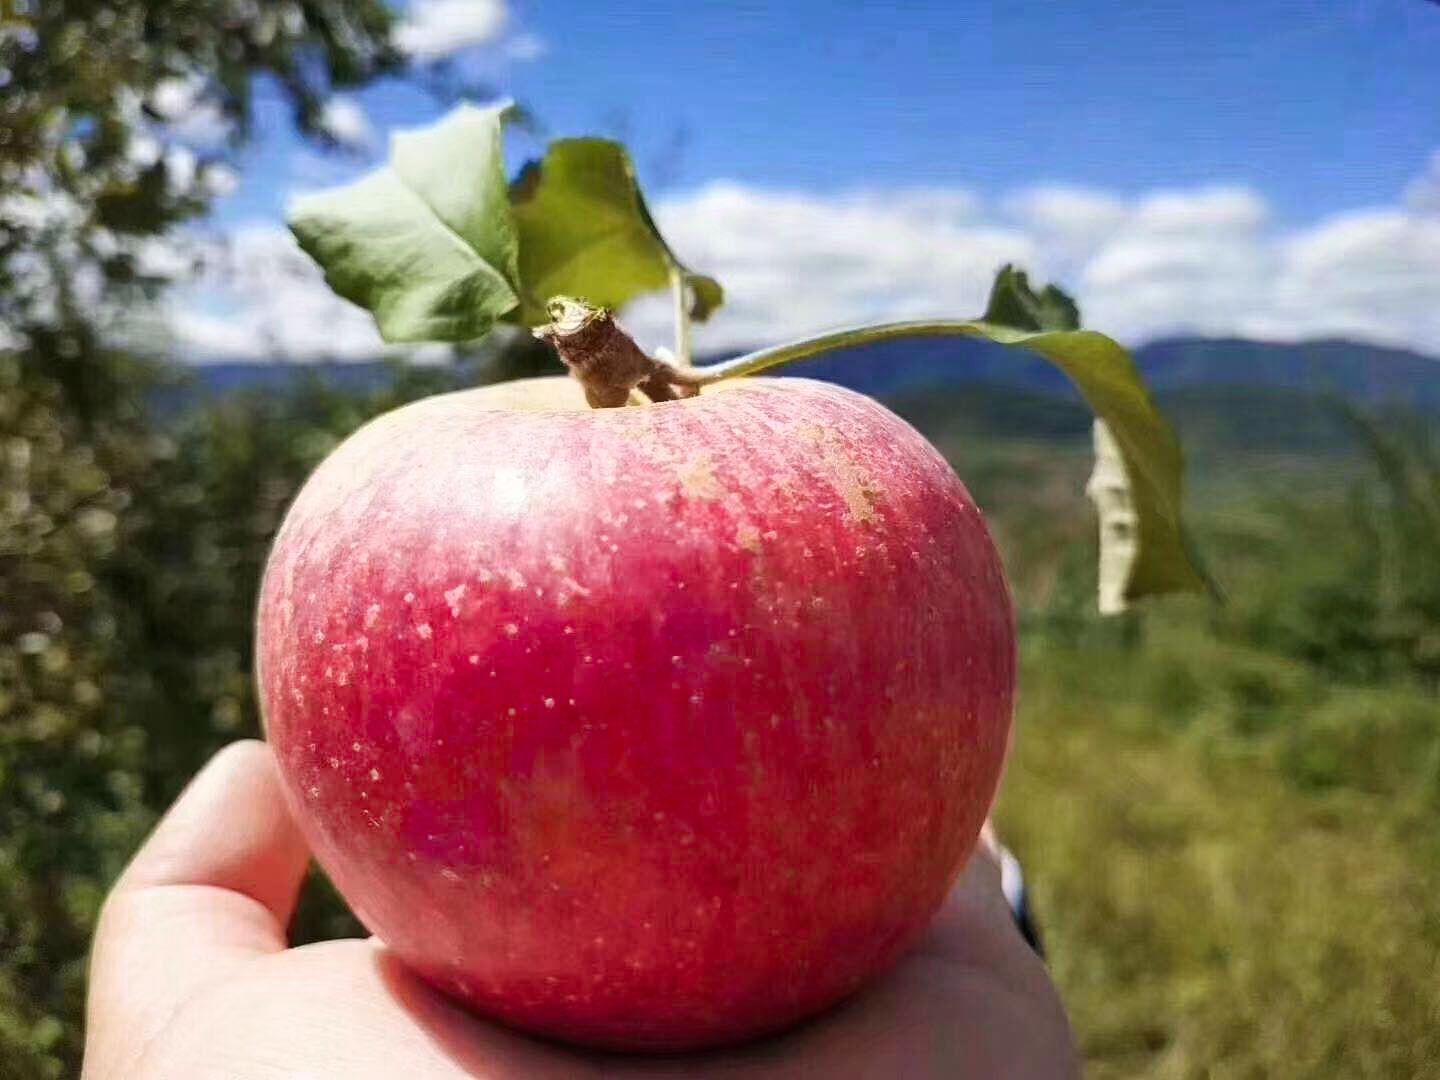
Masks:
[[[1064,1009],[1005,906],[988,832],[924,939],[878,985],[785,1035],[649,1060],[477,1018],[373,939],[289,948],[308,864],[268,747],[220,752],[105,903],[84,1080],[1077,1076]]]

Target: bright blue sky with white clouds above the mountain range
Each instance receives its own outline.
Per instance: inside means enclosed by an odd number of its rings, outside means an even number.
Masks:
[[[888,256],[864,235],[883,230],[933,246],[930,262],[959,259],[963,245],[979,262],[1030,256],[1081,301],[1092,292],[1087,311],[1133,340],[1349,334],[1440,351],[1433,0],[613,7],[416,0],[410,40],[425,55],[449,39],[468,45],[458,62],[533,109],[547,134],[625,138],[681,253],[721,278],[727,266],[704,256],[734,264],[737,301],[746,282],[757,297],[766,258],[855,269],[828,308],[776,320],[742,304],[711,344],[808,328],[805,318],[847,321],[857,302],[881,315],[973,302],[992,269],[942,271],[943,297],[920,297],[917,279],[876,298]],[[346,109],[367,150],[325,156],[301,145],[262,94],[264,135],[240,160],[222,225],[256,235],[278,225],[289,194],[359,174],[383,156],[387,130],[438,114],[399,84]],[[517,163],[536,148],[516,143]],[[841,239],[798,255],[770,240],[746,255],[736,253],[744,236],[713,235],[770,232],[769,220],[792,246],[808,243],[806,226]],[[1266,265],[1244,269],[1237,252]],[[1178,276],[1156,284],[1166,272]],[[1119,302],[1135,291],[1128,274],[1148,275],[1139,307]],[[1257,274],[1289,284],[1256,304],[1250,292],[1272,289]],[[1356,275],[1384,301],[1378,315],[1355,295]],[[1198,314],[1187,315],[1197,288]],[[1338,289],[1323,310],[1303,295],[1318,288]],[[658,334],[657,312],[635,318]]]

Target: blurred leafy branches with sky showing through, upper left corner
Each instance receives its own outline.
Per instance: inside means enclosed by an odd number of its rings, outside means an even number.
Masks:
[[[382,0],[7,0],[0,7],[0,340],[127,321],[148,238],[203,212],[275,78],[308,134],[337,88],[397,71]],[[174,101],[229,141],[179,153]]]

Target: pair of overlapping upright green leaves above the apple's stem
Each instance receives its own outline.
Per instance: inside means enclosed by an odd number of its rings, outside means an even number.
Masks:
[[[557,294],[616,308],[677,275],[694,318],[720,305],[665,245],[618,143],[553,143],[507,187],[508,111],[461,107],[396,135],[389,167],[291,207],[300,245],[386,340],[471,341],[503,315],[544,323]]]

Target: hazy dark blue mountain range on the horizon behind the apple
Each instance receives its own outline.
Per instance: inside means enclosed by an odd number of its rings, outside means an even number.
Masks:
[[[720,357],[710,357],[720,359]],[[1348,444],[1338,400],[1365,409],[1440,415],[1440,359],[1344,340],[1276,344],[1243,338],[1169,338],[1135,350],[1156,402],[1187,445],[1316,451]],[[704,363],[704,361],[701,361]],[[181,400],[278,390],[317,377],[374,390],[395,377],[386,361],[194,364]],[[893,405],[932,432],[963,423],[986,435],[1086,438],[1090,413],[1066,377],[1040,357],[969,338],[887,341],[831,353],[786,374],[850,386]],[[477,382],[454,370],[454,384]]]

